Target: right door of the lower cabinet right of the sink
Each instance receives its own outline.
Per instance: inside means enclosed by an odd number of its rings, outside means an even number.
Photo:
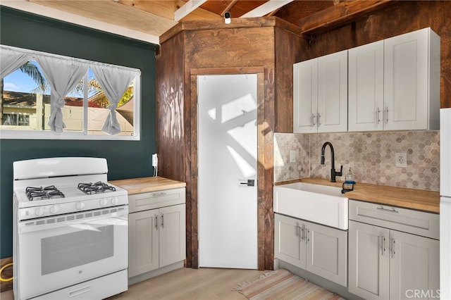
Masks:
[[[390,257],[390,299],[438,298],[440,242],[437,239],[391,230]]]

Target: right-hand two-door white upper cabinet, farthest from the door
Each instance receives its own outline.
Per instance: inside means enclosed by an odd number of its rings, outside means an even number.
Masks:
[[[438,130],[440,37],[425,28],[349,50],[349,131]]]

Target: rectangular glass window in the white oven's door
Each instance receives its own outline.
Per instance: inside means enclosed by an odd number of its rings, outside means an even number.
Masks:
[[[113,256],[113,235],[114,225],[106,225],[41,239],[42,275]]]

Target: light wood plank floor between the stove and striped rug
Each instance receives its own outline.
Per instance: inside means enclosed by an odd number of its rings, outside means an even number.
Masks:
[[[264,271],[216,268],[181,268],[135,285],[108,300],[245,300],[233,291],[241,282],[256,280]],[[1,300],[13,300],[13,292],[0,294]]]

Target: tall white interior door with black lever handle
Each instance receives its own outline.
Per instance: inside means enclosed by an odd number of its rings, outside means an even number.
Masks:
[[[257,75],[197,82],[199,266],[256,269]]]

